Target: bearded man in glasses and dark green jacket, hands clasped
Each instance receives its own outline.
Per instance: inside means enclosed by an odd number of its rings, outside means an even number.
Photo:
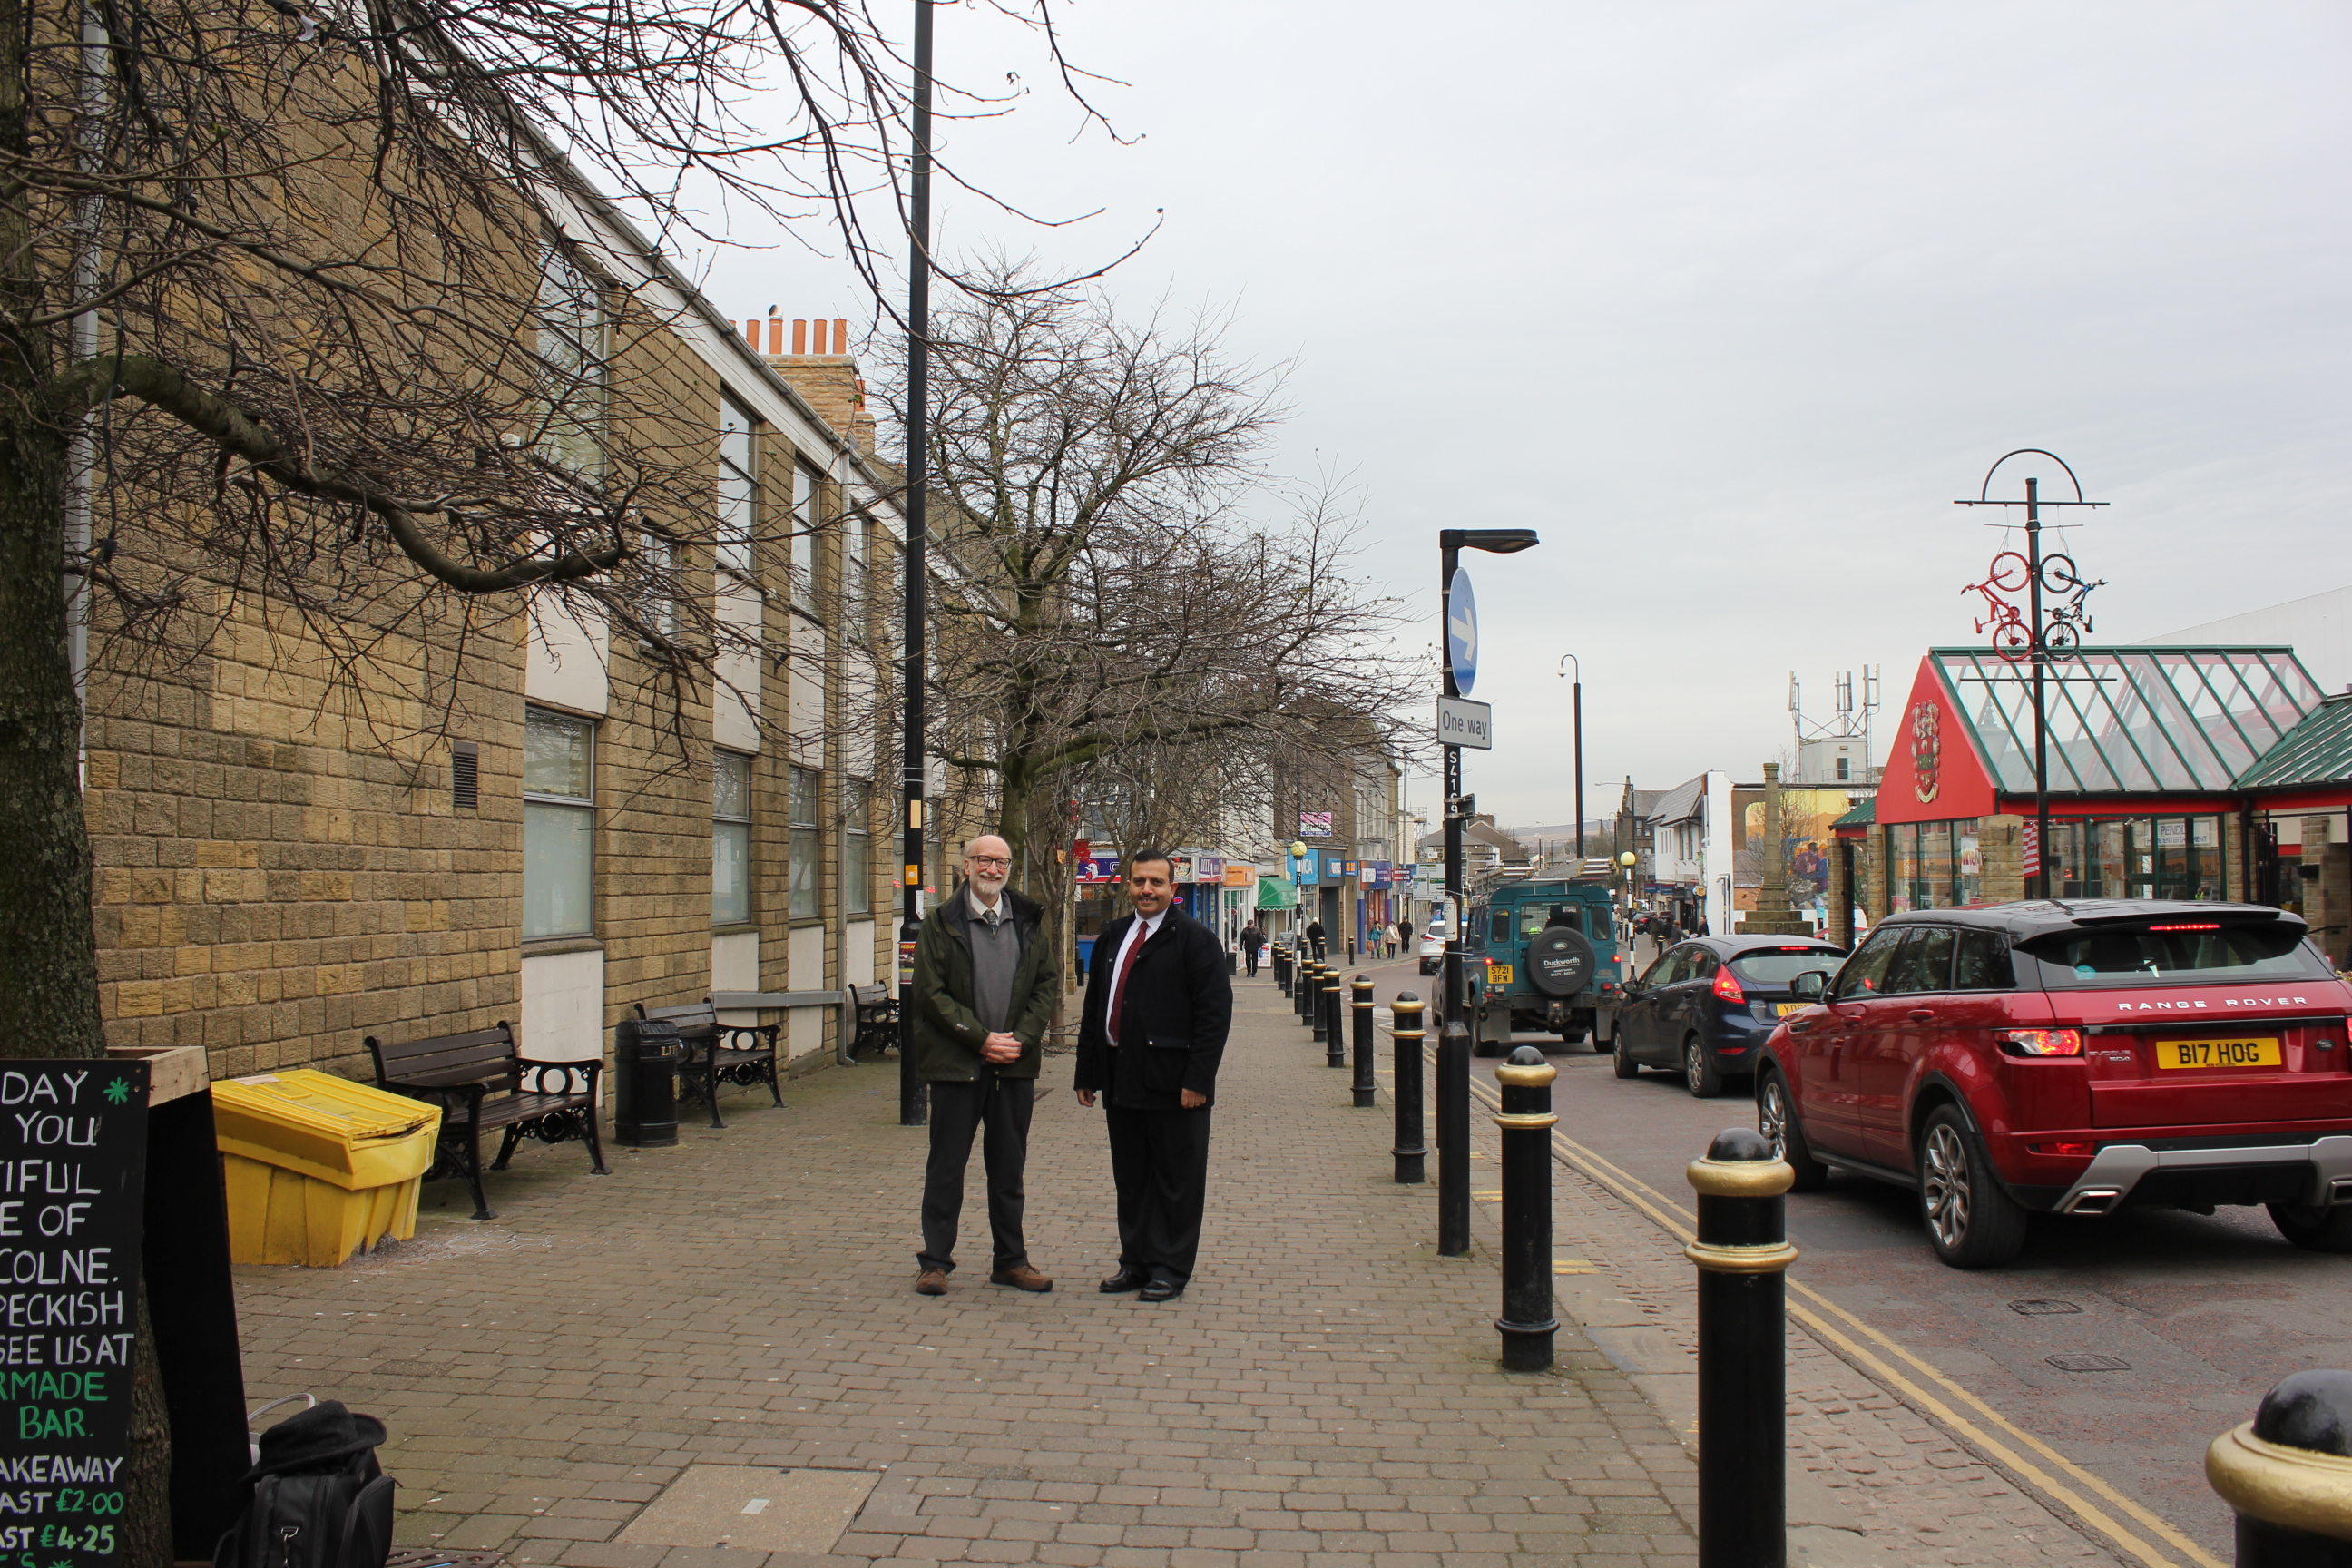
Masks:
[[[988,1178],[988,1284],[1051,1291],[1021,1237],[1028,1126],[1037,1063],[1054,1020],[1044,907],[1007,886],[1011,849],[988,832],[964,849],[964,886],[915,940],[915,1072],[931,1086],[931,1159],[922,1171],[922,1253],[915,1288],[946,1295],[964,1168],[981,1140]]]

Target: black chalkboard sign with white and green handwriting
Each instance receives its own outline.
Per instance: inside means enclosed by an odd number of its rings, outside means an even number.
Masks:
[[[113,1568],[132,1441],[146,1063],[0,1060],[0,1561]]]

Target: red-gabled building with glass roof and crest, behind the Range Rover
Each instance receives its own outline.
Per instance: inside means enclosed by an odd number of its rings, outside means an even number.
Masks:
[[[1987,649],[1919,663],[1853,882],[1872,917],[2023,898],[2258,898],[2241,778],[2321,693],[2293,649],[2082,649],[2044,679],[2049,844],[2037,842],[2032,670]]]

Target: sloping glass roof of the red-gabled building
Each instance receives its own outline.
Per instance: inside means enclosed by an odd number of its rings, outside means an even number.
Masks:
[[[2032,665],[1929,649],[2002,795],[2034,788]],[[2077,649],[2044,675],[2058,795],[2218,792],[2321,703],[2293,649]]]

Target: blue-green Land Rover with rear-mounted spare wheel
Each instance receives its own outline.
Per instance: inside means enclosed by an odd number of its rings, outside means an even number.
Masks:
[[[1510,1051],[1515,1030],[1559,1034],[1562,1044],[1595,1041],[1595,1011],[1623,997],[1625,954],[1616,936],[1606,860],[1595,877],[1491,882],[1470,898],[1465,945],[1477,985],[1470,1037],[1479,1056]]]

